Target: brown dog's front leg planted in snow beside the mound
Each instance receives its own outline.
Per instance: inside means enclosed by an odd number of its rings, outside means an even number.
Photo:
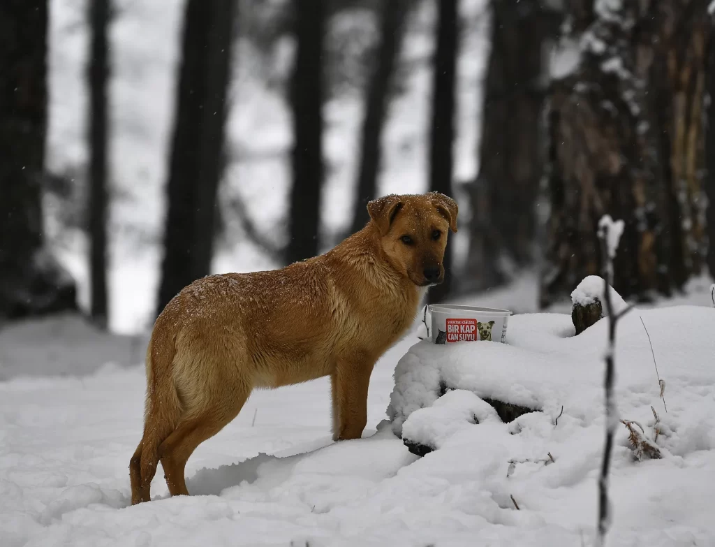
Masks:
[[[330,376],[332,440],[359,439],[368,423],[368,387],[375,363],[340,361]]]

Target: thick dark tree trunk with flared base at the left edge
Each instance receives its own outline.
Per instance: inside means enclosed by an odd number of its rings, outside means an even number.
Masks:
[[[0,320],[76,310],[44,247],[47,1],[0,2]]]

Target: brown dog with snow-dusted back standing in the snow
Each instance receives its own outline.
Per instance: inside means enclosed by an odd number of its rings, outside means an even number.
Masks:
[[[172,496],[184,467],[240,412],[254,388],[322,376],[332,387],[332,436],[360,438],[375,361],[410,327],[429,285],[444,277],[456,202],[389,195],[370,222],[319,257],[282,270],[211,275],[175,296],[147,349],[144,436],[129,462],[132,503],[149,501],[162,462]]]

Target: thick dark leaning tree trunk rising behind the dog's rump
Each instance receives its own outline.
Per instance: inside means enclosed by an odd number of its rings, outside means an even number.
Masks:
[[[235,11],[235,0],[187,0],[157,314],[210,272]]]

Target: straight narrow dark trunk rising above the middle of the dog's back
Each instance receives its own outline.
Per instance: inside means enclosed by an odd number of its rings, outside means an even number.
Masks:
[[[288,262],[318,253],[322,163],[322,42],[325,0],[295,0],[297,51],[290,81],[293,117]]]

